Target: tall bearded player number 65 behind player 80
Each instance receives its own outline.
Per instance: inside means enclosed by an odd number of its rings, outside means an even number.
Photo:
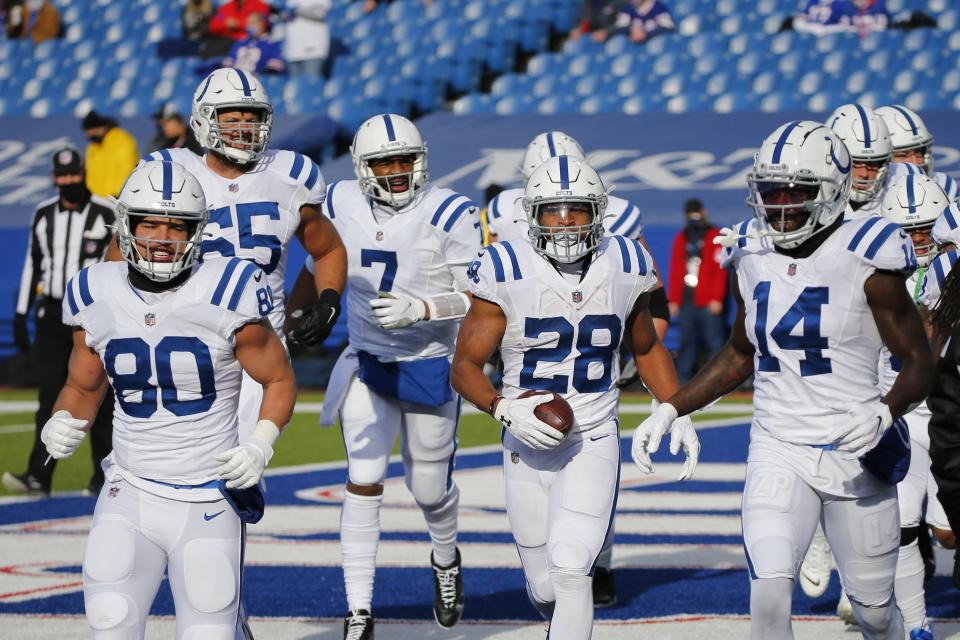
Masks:
[[[153,160],[173,160],[197,177],[210,207],[207,256],[238,256],[266,274],[273,311],[270,322],[282,335],[287,247],[296,238],[316,262],[319,300],[307,310],[291,338],[319,344],[340,312],[346,254],[337,232],[320,212],[326,185],[320,169],[293,151],[268,149],[273,107],[260,81],[241,69],[218,69],[193,96],[190,126],[206,149],[162,149]],[[256,425],[261,391],[244,377],[240,429]]]

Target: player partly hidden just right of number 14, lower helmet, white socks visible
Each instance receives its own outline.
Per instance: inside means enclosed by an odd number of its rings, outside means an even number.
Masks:
[[[907,279],[907,292],[914,304],[923,302],[923,281],[936,256],[931,237],[934,222],[946,208],[947,194],[926,175],[907,175],[894,179],[883,197],[880,213],[907,232],[913,241],[919,269]],[[886,394],[900,371],[900,363],[884,347],[880,351],[881,392]],[[897,485],[900,504],[900,551],[897,560],[896,599],[910,640],[933,640],[932,622],[927,619],[924,602],[924,566],[917,540],[929,536],[921,520],[934,528],[938,539],[952,536],[943,507],[937,500],[937,486],[930,474],[930,436],[927,423],[930,410],[920,403],[903,416],[910,430],[910,468]],[[924,517],[924,503],[926,512]]]

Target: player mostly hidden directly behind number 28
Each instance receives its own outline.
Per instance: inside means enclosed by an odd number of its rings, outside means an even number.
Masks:
[[[527,214],[523,210],[524,188],[530,180],[530,176],[544,162],[550,158],[565,155],[577,160],[586,160],[586,153],[583,147],[572,136],[563,131],[545,131],[537,134],[523,156],[523,162],[520,164],[520,175],[523,178],[523,186],[514,189],[507,189],[497,194],[487,204],[486,222],[490,231],[490,241],[498,240],[511,241],[517,244],[518,241],[528,242],[530,240],[530,224],[527,220]],[[640,215],[640,209],[631,202],[616,196],[607,196],[607,208],[603,216],[603,227],[609,235],[621,235],[627,238],[639,240],[647,252],[650,247],[643,237],[643,218]],[[657,286],[650,294],[649,310],[653,316],[653,325],[657,329],[657,335],[663,340],[667,334],[667,328],[670,326],[670,308],[667,304],[667,292],[663,287],[663,279],[660,277],[660,270],[657,269],[656,262],[651,266],[657,274]],[[637,379],[637,370],[633,358],[626,357],[628,353],[624,351],[621,354],[623,367],[618,371],[618,384],[627,386]],[[598,608],[612,607],[617,602],[616,586],[613,577],[613,538],[611,534],[604,544],[603,552],[597,561],[596,570],[593,573],[593,603]]]

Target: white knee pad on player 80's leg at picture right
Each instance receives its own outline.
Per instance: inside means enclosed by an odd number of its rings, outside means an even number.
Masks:
[[[187,600],[201,613],[239,607],[239,541],[191,540],[183,550],[183,585]]]

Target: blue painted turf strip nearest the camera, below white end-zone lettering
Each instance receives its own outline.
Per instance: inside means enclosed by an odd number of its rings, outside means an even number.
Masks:
[[[469,558],[464,558],[465,563]],[[67,570],[80,577],[80,567]],[[244,595],[251,615],[259,617],[310,616],[335,618],[343,615],[346,597],[343,574],[337,567],[247,567]],[[749,613],[749,580],[740,569],[618,569],[619,603],[594,612],[598,619],[623,620],[681,614]],[[494,569],[464,565],[469,620],[539,620],[523,591],[520,569]],[[927,612],[936,618],[956,618],[951,580],[935,576],[926,583]],[[303,585],[303,588],[295,588]],[[840,581],[834,572],[827,592],[807,598],[799,586],[794,591],[793,615],[836,615]],[[373,609],[378,617],[428,620],[431,617],[433,583],[424,559],[423,568],[380,568],[374,590]],[[26,602],[0,603],[0,614],[83,613],[80,593],[51,596]],[[173,615],[173,598],[164,580],[150,610],[151,615]]]

